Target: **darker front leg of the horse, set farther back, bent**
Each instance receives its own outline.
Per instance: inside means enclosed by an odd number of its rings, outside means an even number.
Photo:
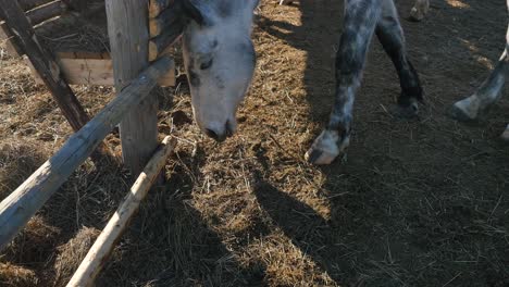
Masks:
[[[398,72],[401,86],[401,95],[398,98],[399,114],[406,117],[414,116],[419,111],[418,101],[422,101],[421,82],[408,59],[404,30],[392,0],[383,0],[376,36]]]

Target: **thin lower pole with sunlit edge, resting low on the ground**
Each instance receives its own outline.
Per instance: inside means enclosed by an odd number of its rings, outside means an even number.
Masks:
[[[122,204],[116,209],[116,212],[108,222],[107,226],[82,261],[82,264],[79,264],[76,273],[74,273],[69,282],[67,287],[92,286],[97,274],[99,274],[108,260],[115,242],[122,236],[131,219],[138,210],[139,203],[147,196],[175,146],[175,138],[164,138],[161,149],[159,149],[148,162],[144,172],[131,188],[129,194],[127,194]]]

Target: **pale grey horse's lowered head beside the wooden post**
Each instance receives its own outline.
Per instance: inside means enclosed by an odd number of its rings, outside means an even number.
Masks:
[[[250,35],[258,1],[181,0],[188,20],[183,55],[195,121],[218,141],[235,133],[235,114],[253,75]]]

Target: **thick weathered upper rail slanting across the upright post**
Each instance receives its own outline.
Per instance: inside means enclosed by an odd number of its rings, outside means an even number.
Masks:
[[[16,190],[0,202],[0,250],[87,159],[121,122],[125,113],[136,109],[148,97],[149,91],[157,85],[158,78],[171,67],[173,67],[173,61],[170,58],[164,57],[158,60],[126,86],[79,132],[71,136],[64,146]]]

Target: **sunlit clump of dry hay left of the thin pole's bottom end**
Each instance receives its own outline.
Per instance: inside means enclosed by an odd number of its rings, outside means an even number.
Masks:
[[[83,227],[74,238],[58,248],[54,286],[65,286],[100,233],[92,227]]]

